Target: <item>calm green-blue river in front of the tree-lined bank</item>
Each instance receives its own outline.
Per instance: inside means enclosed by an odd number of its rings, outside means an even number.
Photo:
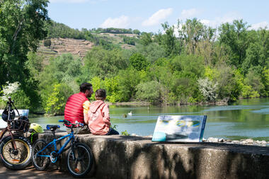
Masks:
[[[132,111],[132,116],[127,115]],[[127,115],[127,117],[124,117]],[[159,115],[207,115],[204,138],[255,139],[269,141],[269,98],[238,100],[236,103],[222,106],[134,106],[110,105],[110,120],[117,125],[118,132],[149,136],[154,132]],[[36,122],[45,128],[47,124],[60,125],[63,116],[30,116],[30,122]],[[64,127],[61,126],[62,129]]]

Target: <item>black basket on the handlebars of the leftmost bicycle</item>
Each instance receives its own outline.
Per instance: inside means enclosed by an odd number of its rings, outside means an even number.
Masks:
[[[8,128],[13,131],[28,132],[30,122],[28,117],[20,116],[16,120],[8,120]]]

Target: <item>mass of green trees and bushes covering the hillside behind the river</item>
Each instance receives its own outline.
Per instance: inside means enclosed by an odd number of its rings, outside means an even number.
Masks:
[[[112,103],[185,104],[269,95],[267,28],[250,30],[243,20],[211,28],[193,18],[161,24],[159,33],[78,30],[49,21],[46,7],[45,0],[0,1],[0,96],[18,81],[11,96],[25,108],[61,114],[82,82],[92,83],[93,90],[105,88]],[[108,32],[115,39],[100,35]],[[94,47],[82,59],[59,54],[48,60],[35,52],[45,37],[47,47],[52,37],[90,40]]]

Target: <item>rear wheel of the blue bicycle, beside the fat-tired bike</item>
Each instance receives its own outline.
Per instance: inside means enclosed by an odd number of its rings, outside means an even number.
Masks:
[[[47,168],[47,166],[50,165],[49,157],[37,156],[38,152],[41,149],[44,149],[46,145],[47,145],[47,142],[45,142],[44,139],[38,139],[33,146],[32,161],[33,161],[33,166],[35,166],[35,168],[38,171],[44,171]],[[40,152],[40,155],[50,156],[50,150],[46,148],[45,150]]]

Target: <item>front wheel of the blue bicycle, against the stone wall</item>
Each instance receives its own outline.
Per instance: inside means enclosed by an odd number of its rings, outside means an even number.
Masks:
[[[74,144],[74,152],[69,149],[67,153],[67,168],[74,177],[83,177],[91,171],[93,154],[84,143]]]

